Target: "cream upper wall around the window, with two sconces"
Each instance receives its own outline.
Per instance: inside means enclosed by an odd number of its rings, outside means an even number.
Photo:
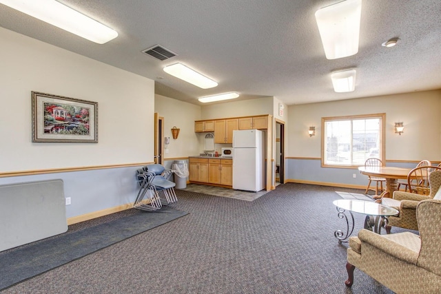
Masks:
[[[291,105],[287,156],[320,158],[321,118],[386,113],[387,160],[440,160],[441,90],[358,98],[327,103]],[[395,122],[404,123],[404,134],[394,132]],[[309,137],[310,125],[316,136]]]

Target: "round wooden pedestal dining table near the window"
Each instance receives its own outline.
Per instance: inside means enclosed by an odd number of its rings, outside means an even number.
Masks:
[[[361,174],[366,176],[375,176],[386,179],[386,187],[378,197],[374,199],[381,199],[383,197],[392,198],[393,191],[398,190],[398,180],[407,180],[407,175],[412,169],[403,167],[358,167]]]

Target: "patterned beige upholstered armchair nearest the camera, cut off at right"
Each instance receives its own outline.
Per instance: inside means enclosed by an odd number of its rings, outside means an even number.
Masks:
[[[441,293],[441,200],[420,201],[416,217],[420,236],[362,229],[351,237],[345,284],[352,286],[357,268],[396,293]]]

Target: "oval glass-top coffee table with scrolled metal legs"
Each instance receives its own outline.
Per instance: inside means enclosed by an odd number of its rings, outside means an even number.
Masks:
[[[332,203],[337,208],[338,218],[344,218],[347,224],[346,233],[341,230],[334,232],[334,236],[340,243],[348,242],[353,232],[353,212],[365,214],[365,229],[375,233],[381,233],[381,228],[387,225],[387,218],[389,216],[396,216],[398,214],[398,210],[373,201],[339,199],[334,200]],[[348,218],[346,212],[349,212],[351,218]]]

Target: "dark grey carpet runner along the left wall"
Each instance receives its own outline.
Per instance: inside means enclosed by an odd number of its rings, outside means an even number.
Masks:
[[[125,216],[0,253],[0,290],[187,213],[164,207],[153,213],[131,209],[121,214]]]

